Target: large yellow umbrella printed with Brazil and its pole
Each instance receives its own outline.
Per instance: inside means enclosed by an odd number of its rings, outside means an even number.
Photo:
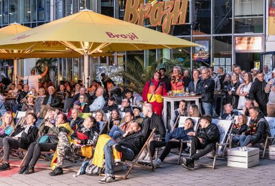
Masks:
[[[0,49],[75,51],[84,56],[85,85],[90,54],[157,48],[195,47],[196,43],[140,25],[82,10],[0,41]]]

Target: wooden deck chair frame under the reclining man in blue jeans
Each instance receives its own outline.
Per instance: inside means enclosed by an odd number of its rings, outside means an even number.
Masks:
[[[132,171],[132,169],[135,165],[137,165],[139,167],[143,167],[144,169],[150,169],[152,171],[154,170],[153,158],[152,158],[152,155],[151,155],[150,149],[149,149],[149,140],[153,136],[154,133],[155,133],[155,128],[152,130],[151,134],[146,139],[144,145],[142,146],[142,149],[140,149],[140,152],[137,154],[137,156],[135,156],[135,158],[133,158],[133,161],[125,161],[125,163],[130,165],[130,167],[129,167],[128,171],[126,172],[126,174],[124,174],[122,176],[115,175],[115,178],[122,178],[122,179],[126,180],[126,178],[129,176],[129,174],[131,173],[131,171]],[[149,155],[150,161],[151,161],[151,166],[141,165],[141,164],[137,163],[137,160],[142,155],[142,152],[144,151],[144,149],[147,149],[147,151],[148,151],[148,155]],[[100,176],[104,176],[104,174],[100,174]]]

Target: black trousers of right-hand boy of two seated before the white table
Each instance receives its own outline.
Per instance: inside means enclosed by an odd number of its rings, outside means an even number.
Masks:
[[[194,160],[198,160],[199,158],[201,158],[202,156],[208,154],[209,152],[212,152],[212,150],[215,148],[215,144],[214,143],[209,143],[209,144],[202,144],[199,141],[199,138],[197,137],[192,137],[191,138],[191,157]],[[197,149],[202,149],[201,151],[199,151],[197,154]]]

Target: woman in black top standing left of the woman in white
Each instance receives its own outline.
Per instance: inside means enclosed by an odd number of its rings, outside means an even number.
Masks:
[[[236,107],[238,106],[239,95],[236,94],[236,90],[238,90],[239,85],[239,75],[234,72],[232,74],[231,83],[228,85],[227,88],[228,94],[225,97],[226,103],[230,103],[233,109],[236,109]]]

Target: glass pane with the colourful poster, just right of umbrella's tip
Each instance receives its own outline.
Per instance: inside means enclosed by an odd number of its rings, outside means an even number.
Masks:
[[[196,68],[201,66],[209,67],[211,49],[210,37],[193,37],[192,42],[203,46],[192,48],[193,66],[195,66]]]

